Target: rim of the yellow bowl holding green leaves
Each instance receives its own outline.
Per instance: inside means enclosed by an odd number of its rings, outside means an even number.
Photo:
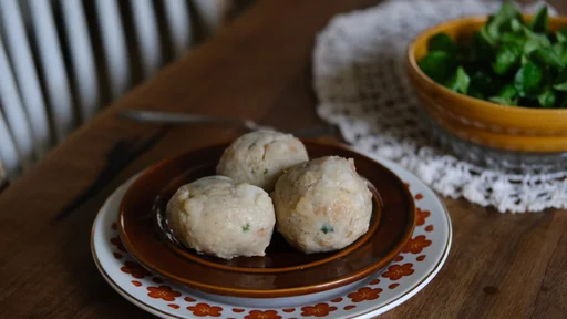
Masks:
[[[529,20],[534,16],[533,14],[522,14],[524,20]],[[453,92],[449,90],[447,88],[441,85],[440,83],[435,82],[433,79],[427,76],[421,68],[417,65],[417,61],[415,60],[415,47],[417,42],[424,40],[424,38],[430,38],[433,34],[436,34],[439,32],[442,32],[443,30],[447,29],[455,29],[462,25],[466,24],[473,24],[473,23],[480,23],[485,22],[489,18],[488,14],[484,16],[467,16],[463,18],[452,19],[447,20],[441,23],[437,23],[431,28],[425,29],[420,34],[417,34],[412,42],[410,43],[410,47],[408,48],[408,61],[411,70],[415,72],[419,76],[416,76],[419,81],[426,83],[432,90],[435,90],[442,95],[449,96],[453,100],[462,100],[463,102],[467,104],[476,103],[477,105],[481,105],[482,107],[496,111],[496,112],[505,112],[508,114],[515,114],[515,115],[560,115],[560,116],[567,116],[567,109],[533,109],[533,107],[525,107],[522,105],[517,106],[507,106],[507,105],[501,105],[494,102],[472,97],[468,95],[464,95],[461,93]],[[559,17],[549,17],[549,22],[560,23],[567,25],[567,17],[559,16]]]

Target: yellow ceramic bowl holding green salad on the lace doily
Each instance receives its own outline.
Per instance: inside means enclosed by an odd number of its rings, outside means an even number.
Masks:
[[[529,21],[532,17],[525,16]],[[470,38],[487,17],[452,20],[427,29],[410,45],[409,75],[421,106],[441,127],[474,144],[516,152],[563,153],[567,151],[567,110],[505,106],[455,93],[437,84],[417,65],[427,53],[431,37],[445,32],[451,38]],[[567,18],[550,18],[549,27],[567,25]]]

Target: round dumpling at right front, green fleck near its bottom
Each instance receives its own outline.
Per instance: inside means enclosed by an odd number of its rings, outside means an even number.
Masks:
[[[372,193],[353,160],[321,157],[288,169],[272,194],[278,231],[305,253],[342,249],[368,231]]]

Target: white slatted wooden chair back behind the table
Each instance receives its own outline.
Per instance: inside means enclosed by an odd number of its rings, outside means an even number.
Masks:
[[[189,48],[192,17],[214,30],[220,4],[0,0],[0,166],[14,177],[41,158],[133,81]],[[141,79],[133,79],[131,56],[137,56]]]

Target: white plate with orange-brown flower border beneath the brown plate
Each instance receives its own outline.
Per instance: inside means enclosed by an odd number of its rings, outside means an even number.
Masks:
[[[396,164],[374,160],[408,183],[415,199],[416,227],[412,239],[391,265],[349,285],[347,291],[342,287],[312,296],[249,300],[205,295],[151,274],[122,246],[116,230],[120,203],[135,177],[109,197],[94,220],[91,237],[94,261],[104,279],[120,295],[162,318],[375,317],[410,299],[435,277],[449,255],[452,228],[442,202],[417,177]],[[261,307],[250,307],[258,303]]]

